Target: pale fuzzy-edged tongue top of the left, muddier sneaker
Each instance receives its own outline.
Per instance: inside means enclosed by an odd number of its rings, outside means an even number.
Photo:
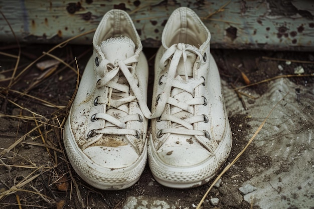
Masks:
[[[101,51],[111,63],[116,59],[126,60],[134,55],[135,44],[127,37],[114,37],[101,42]]]

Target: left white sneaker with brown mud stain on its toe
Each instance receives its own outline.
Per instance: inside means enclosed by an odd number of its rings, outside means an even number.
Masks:
[[[147,61],[124,11],[104,15],[93,47],[64,127],[65,149],[87,183],[123,189],[139,179],[147,160],[147,119],[139,107],[146,105]]]

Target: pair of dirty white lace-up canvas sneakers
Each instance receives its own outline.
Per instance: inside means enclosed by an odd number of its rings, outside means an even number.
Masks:
[[[232,134],[209,42],[192,10],[173,12],[155,58],[150,112],[148,66],[133,22],[120,10],[104,15],[63,133],[81,178],[100,189],[127,188],[139,179],[147,153],[165,186],[194,187],[217,173]]]

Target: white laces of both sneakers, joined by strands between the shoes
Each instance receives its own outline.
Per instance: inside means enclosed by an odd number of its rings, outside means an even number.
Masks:
[[[116,108],[118,110],[127,112],[127,104],[130,102],[137,102],[146,118],[159,118],[159,120],[173,122],[172,128],[162,129],[158,134],[162,135],[165,133],[178,133],[183,135],[205,135],[207,137],[207,134],[203,130],[194,130],[192,125],[193,123],[206,120],[207,116],[198,115],[185,119],[175,116],[176,113],[180,113],[181,111],[187,111],[193,115],[194,105],[207,103],[205,97],[194,98],[194,89],[199,85],[204,84],[205,81],[204,78],[189,79],[186,67],[187,51],[195,53],[200,58],[202,57],[202,54],[196,48],[192,46],[186,46],[185,44],[173,45],[163,55],[160,61],[160,67],[165,68],[165,63],[169,62],[169,60],[171,60],[171,63],[167,76],[164,75],[160,80],[160,82],[165,83],[165,87],[163,93],[159,95],[158,104],[156,105],[155,111],[153,113],[151,113],[147,107],[144,96],[138,87],[138,80],[134,79],[133,77],[134,68],[136,67],[139,59],[138,54],[133,55],[124,61],[115,60],[113,64],[108,60],[104,60],[100,63],[99,67],[96,69],[96,73],[102,78],[97,82],[96,87],[108,87],[109,96],[97,97],[95,100],[96,103],[107,105],[107,110],[109,108]],[[181,57],[183,57],[185,67],[185,81],[175,78]],[[108,69],[110,70],[108,71]],[[123,76],[120,75],[121,73]],[[126,79],[128,84],[121,84],[121,82],[118,82],[119,79],[123,78]],[[181,77],[179,76],[179,78]],[[112,99],[112,91],[114,92],[115,96],[118,95],[121,97],[121,99]],[[129,92],[133,92],[133,95],[129,95]],[[183,92],[188,92],[193,97],[193,99],[188,101],[180,101],[176,99],[176,96],[182,94]],[[172,106],[171,114],[163,114],[167,104]],[[142,120],[141,116],[138,114],[127,114],[126,116],[117,119],[107,113],[96,113],[93,115],[93,119],[103,119],[106,121],[105,127],[102,129],[93,130],[93,134],[133,135],[135,137],[139,137],[139,132],[137,130],[126,128],[126,122]],[[178,127],[184,127],[185,129],[178,129]],[[98,139],[95,140],[97,141]],[[88,144],[92,144],[94,142],[95,141],[90,141]],[[130,143],[133,144],[133,142]],[[85,146],[88,146],[88,144]]]

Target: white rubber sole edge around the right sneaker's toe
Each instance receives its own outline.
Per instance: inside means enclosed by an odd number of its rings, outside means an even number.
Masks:
[[[224,139],[220,142],[213,157],[208,158],[201,164],[189,167],[169,166],[158,156],[150,135],[148,142],[148,163],[152,175],[160,184],[172,188],[191,188],[200,186],[210,181],[219,171],[225,160],[228,158],[232,136],[230,125]]]

